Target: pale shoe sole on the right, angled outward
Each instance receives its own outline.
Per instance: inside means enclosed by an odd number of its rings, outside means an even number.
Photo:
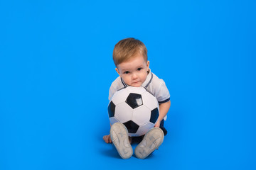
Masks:
[[[158,149],[164,141],[164,132],[160,128],[152,128],[146,132],[142,142],[135,148],[135,155],[139,159],[144,159],[149,154]]]

